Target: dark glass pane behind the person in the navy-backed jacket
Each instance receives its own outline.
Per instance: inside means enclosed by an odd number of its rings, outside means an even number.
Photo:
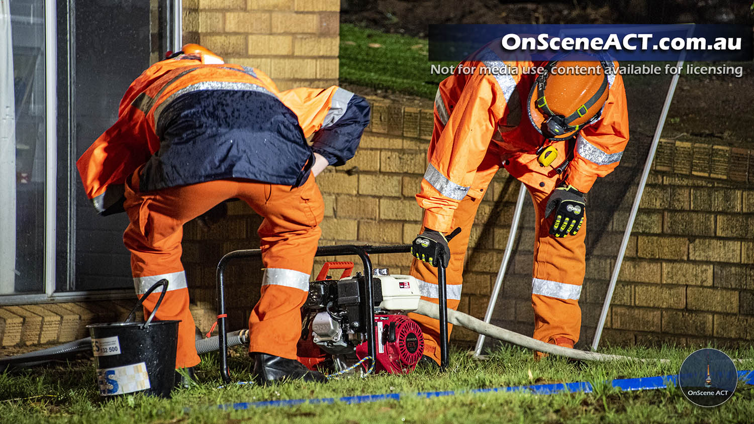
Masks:
[[[153,2],[154,3],[154,2]],[[153,10],[152,10],[153,9]],[[73,160],[118,118],[127,87],[152,58],[150,20],[156,3],[86,0],[75,2],[72,117]],[[156,56],[156,55],[155,55]],[[156,57],[155,57],[156,58]],[[100,216],[81,189],[76,175],[75,291],[132,288],[130,254],[123,246],[128,219],[124,213]],[[103,266],[106,264],[106,266]]]

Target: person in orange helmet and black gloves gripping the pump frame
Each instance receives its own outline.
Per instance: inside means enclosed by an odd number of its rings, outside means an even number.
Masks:
[[[493,45],[462,62],[437,90],[429,166],[416,196],[425,213],[411,275],[420,280],[422,298],[437,303],[443,252],[448,307],[458,307],[474,215],[503,166],[526,185],[536,210],[534,337],[573,347],[581,328],[584,194],[618,166],[628,142],[623,80],[609,59],[504,61]],[[471,67],[473,73],[459,72]],[[461,233],[448,242],[444,234],[455,227]],[[439,322],[410,316],[424,331],[425,355],[439,362]]]

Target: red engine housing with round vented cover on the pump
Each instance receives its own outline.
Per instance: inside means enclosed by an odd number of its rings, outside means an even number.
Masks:
[[[385,371],[390,374],[408,374],[414,371],[421,355],[424,354],[424,335],[412,319],[403,315],[375,316],[375,373]],[[356,346],[359,359],[369,355],[367,343]],[[369,361],[364,361],[369,368]]]

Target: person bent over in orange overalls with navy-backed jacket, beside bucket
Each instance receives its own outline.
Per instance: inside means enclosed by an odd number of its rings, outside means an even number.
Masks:
[[[77,166],[100,213],[128,214],[123,240],[136,293],[168,281],[156,318],[181,320],[176,368],[199,363],[182,226],[238,198],[264,217],[257,231],[262,297],[249,319],[255,378],[325,380],[296,361],[324,213],[314,177],[353,157],[368,123],[369,104],[354,93],[334,86],[279,91],[259,69],[225,64],[197,44],[128,87],[118,121]],[[146,312],[159,294],[149,295]]]

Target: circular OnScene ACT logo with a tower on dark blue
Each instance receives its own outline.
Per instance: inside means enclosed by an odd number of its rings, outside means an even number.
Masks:
[[[736,391],[738,372],[730,356],[718,349],[699,349],[685,358],[678,373],[683,395],[700,407],[725,403]]]

